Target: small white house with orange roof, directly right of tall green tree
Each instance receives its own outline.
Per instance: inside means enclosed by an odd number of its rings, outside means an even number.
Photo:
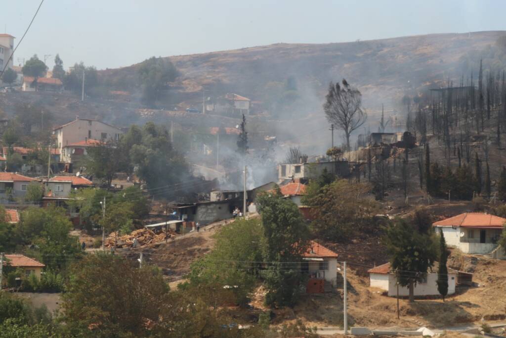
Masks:
[[[302,254],[301,264],[303,273],[310,279],[320,279],[336,285],[338,277],[338,254],[323,245],[310,241],[308,250]]]

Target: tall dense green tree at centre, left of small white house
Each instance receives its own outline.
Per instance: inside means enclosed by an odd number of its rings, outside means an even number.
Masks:
[[[267,288],[266,304],[293,306],[299,294],[301,272],[287,262],[302,261],[308,248],[309,229],[295,203],[280,194],[258,198],[263,228],[263,257],[269,262],[262,275]]]

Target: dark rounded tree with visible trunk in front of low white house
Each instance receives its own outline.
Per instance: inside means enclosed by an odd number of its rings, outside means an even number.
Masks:
[[[433,237],[414,230],[407,220],[397,219],[387,228],[384,243],[399,285],[408,287],[409,302],[414,302],[414,286],[425,280],[437,259]]]

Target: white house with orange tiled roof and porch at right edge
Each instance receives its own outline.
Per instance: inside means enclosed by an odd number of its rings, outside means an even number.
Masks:
[[[481,212],[466,212],[432,225],[443,231],[448,246],[465,253],[490,253],[497,247],[506,218]]]

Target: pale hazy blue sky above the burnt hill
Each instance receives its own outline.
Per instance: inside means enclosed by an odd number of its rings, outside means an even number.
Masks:
[[[3,1],[0,32],[23,35],[39,0]],[[502,0],[45,0],[14,55],[57,53],[98,69],[151,56],[205,53],[274,43],[334,43],[504,30]]]

